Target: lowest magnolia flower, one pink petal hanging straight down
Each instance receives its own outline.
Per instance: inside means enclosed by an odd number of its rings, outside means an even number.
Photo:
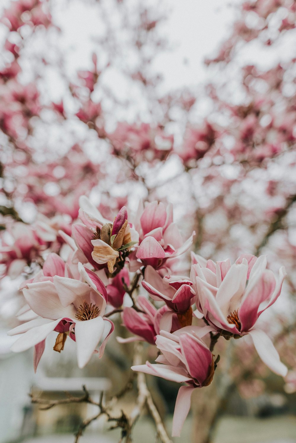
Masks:
[[[186,383],[178,392],[173,417],[172,436],[179,437],[190,409],[191,393],[195,388],[210,385],[214,377],[214,356],[203,342],[202,337],[213,330],[210,326],[186,326],[173,334],[160,331],[156,346],[162,354],[156,358],[160,364],[132,366],[140,371],[166,380]]]

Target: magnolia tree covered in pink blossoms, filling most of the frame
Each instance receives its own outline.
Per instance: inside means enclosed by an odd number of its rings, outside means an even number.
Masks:
[[[209,72],[224,75],[213,75],[199,97],[159,93],[152,58],[165,48],[164,16],[153,8],[125,0],[92,5],[104,23],[101,55],[93,53],[91,68],[74,78],[56,43],[56,8],[12,1],[1,20],[1,276],[22,279],[12,351],[34,348],[36,371],[54,333],[53,350],[73,340],[83,368],[93,354],[104,358],[121,319],[132,335],[117,341],[135,342],[139,396],[132,415],[120,417],[101,398],[93,419],[107,416],[129,442],[147,404],[169,442],[148,373],[182,384],[171,435],[180,435],[192,404],[195,441],[205,443],[219,402],[231,386],[250,386],[260,361],[286,377],[287,392],[296,389],[296,325],[288,312],[296,285],[296,58],[268,70],[238,60],[248,45],[260,52],[293,39],[295,4],[244,2],[232,35],[206,61]],[[46,88],[52,69],[66,85],[58,100]],[[133,121],[121,116],[132,115],[135,103],[120,102],[106,82],[112,70],[143,97],[145,110]],[[204,100],[210,112],[197,121]],[[174,175],[165,176],[167,165]],[[141,342],[157,348],[155,362],[144,364]],[[82,399],[96,404],[87,391]],[[197,403],[205,408],[202,425]]]

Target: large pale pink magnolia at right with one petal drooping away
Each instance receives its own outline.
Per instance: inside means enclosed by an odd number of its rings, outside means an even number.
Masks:
[[[261,358],[273,372],[287,373],[277,350],[255,324],[265,309],[280,295],[286,272],[280,268],[276,282],[266,269],[266,256],[243,254],[231,266],[230,260],[214,263],[193,254],[191,281],[196,294],[196,315],[203,316],[226,338],[249,334]]]

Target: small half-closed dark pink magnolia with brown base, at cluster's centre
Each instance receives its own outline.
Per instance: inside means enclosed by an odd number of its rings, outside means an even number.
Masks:
[[[168,311],[166,316],[172,316],[174,312],[177,313],[180,326],[189,326],[192,321],[191,301],[195,294],[191,292],[192,282],[186,277],[182,276],[164,276],[147,266],[144,273],[144,280],[142,286],[149,292],[149,295],[154,300],[164,300]]]

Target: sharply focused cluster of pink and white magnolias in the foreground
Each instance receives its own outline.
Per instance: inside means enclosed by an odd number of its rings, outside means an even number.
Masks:
[[[26,304],[20,314],[26,313],[30,320],[10,331],[21,334],[12,350],[34,346],[36,370],[45,339],[55,331],[54,350],[61,352],[69,336],[76,343],[82,368],[93,353],[102,357],[114,330],[108,318],[112,312],[106,314],[106,309],[119,309],[133,336],[118,341],[146,341],[161,352],[156,364],[147,361],[132,369],[186,383],[175,406],[173,435],[179,435],[193,389],[209,385],[214,377],[218,358],[214,360],[212,354],[213,339],[249,334],[262,361],[275,373],[286,375],[273,343],[257,326],[261,313],[280,295],[285,271],[280,269],[276,281],[266,269],[265,256],[241,255],[231,265],[230,260],[215,263],[192,253],[190,278],[171,275],[171,263],[189,249],[194,233],[183,241],[171,206],[161,202],[140,203],[133,221],[125,206],[112,222],[87,197],[80,198],[71,232],[58,231],[69,251],[66,262],[50,252],[42,269],[21,286]],[[132,287],[131,272],[135,273]],[[135,300],[132,291],[141,278],[145,292]],[[122,307],[126,292],[132,306]],[[164,304],[156,307],[148,296]],[[192,324],[201,319],[207,326]]]

